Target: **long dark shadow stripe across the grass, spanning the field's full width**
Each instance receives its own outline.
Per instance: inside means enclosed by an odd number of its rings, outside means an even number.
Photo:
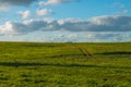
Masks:
[[[60,64],[60,63],[22,63],[22,62],[0,62],[2,66],[60,66],[60,67],[102,67],[102,69],[131,69],[130,66],[110,66],[110,65],[84,65],[84,64]]]

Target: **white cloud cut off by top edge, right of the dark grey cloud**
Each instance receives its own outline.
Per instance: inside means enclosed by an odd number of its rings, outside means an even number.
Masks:
[[[39,1],[38,4],[40,7],[45,7],[45,5],[56,5],[60,3],[69,3],[74,1],[79,1],[79,0],[47,0],[47,1]]]

